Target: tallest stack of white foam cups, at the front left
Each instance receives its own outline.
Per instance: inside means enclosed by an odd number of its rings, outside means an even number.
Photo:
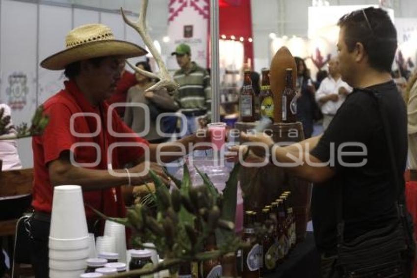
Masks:
[[[89,247],[81,187],[55,187],[49,236],[50,278],[78,278],[85,271]]]

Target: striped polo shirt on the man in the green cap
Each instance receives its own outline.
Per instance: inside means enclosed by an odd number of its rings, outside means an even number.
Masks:
[[[180,85],[174,92],[174,100],[182,112],[207,110],[206,116],[211,118],[211,86],[210,75],[206,69],[191,62],[191,68],[185,72],[180,69],[174,73],[174,80]]]

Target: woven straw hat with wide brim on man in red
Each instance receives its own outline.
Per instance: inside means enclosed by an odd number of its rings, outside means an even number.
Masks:
[[[68,64],[90,58],[130,58],[147,54],[147,51],[138,45],[114,39],[112,30],[103,24],[86,24],[71,30],[65,38],[65,46],[65,50],[43,60],[41,67],[63,70]]]

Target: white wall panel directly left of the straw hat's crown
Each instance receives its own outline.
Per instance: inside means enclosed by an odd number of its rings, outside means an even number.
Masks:
[[[71,30],[71,8],[40,5],[39,10],[39,58],[44,58],[65,49],[65,36]],[[63,71],[51,71],[39,67],[38,103],[63,88]]]

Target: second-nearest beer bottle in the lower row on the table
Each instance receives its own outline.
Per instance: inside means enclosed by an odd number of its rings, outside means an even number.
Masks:
[[[262,237],[262,249],[263,249],[263,265],[261,265],[261,276],[271,273],[276,267],[275,261],[275,227],[271,221],[269,209],[262,209],[263,226],[265,227],[265,234]]]

